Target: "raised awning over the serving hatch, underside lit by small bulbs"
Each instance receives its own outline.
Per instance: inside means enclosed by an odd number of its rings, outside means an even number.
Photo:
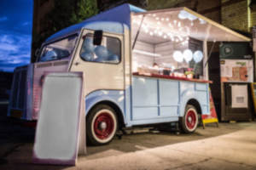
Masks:
[[[236,31],[230,30],[189,8],[168,8],[132,14],[135,27],[148,34],[159,34],[162,37],[193,37],[208,42],[249,42]],[[142,22],[143,21],[143,22]],[[155,40],[155,39],[154,39]]]

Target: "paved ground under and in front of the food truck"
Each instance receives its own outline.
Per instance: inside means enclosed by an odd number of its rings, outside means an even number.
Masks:
[[[111,144],[88,147],[76,167],[32,164],[34,131],[0,117],[0,169],[256,169],[256,122],[173,132],[126,134]]]

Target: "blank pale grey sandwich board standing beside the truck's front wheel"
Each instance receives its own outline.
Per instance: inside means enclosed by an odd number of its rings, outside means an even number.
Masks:
[[[45,76],[33,162],[75,165],[78,154],[85,151],[82,88],[82,73],[49,73]]]

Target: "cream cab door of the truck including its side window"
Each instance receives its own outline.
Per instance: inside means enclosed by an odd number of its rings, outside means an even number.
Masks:
[[[70,71],[84,72],[86,94],[96,90],[124,90],[123,35],[103,32],[102,45],[93,44],[94,31],[84,30]]]

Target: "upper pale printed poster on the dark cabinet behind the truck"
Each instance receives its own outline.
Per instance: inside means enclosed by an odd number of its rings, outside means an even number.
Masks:
[[[222,82],[253,82],[252,59],[221,59]]]

